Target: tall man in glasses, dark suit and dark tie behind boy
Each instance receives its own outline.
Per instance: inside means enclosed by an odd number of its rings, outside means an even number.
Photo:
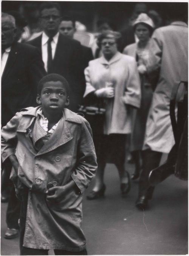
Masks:
[[[59,33],[60,7],[54,2],[40,6],[43,33],[28,43],[42,55],[48,73],[64,76],[70,84],[70,110],[77,112],[85,91],[84,64],[80,42]]]

